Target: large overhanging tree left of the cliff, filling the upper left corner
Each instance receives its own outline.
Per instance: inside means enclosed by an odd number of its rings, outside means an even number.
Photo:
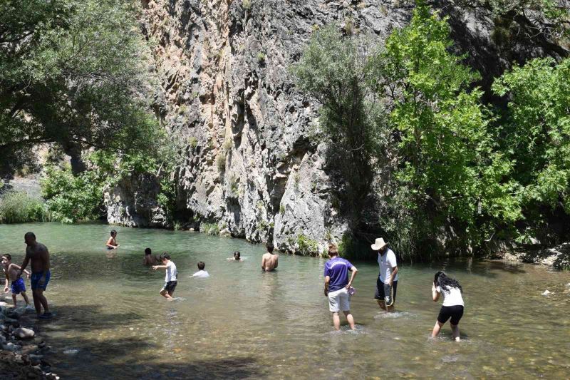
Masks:
[[[39,143],[128,150],[146,141],[155,120],[129,4],[0,2],[0,164]]]

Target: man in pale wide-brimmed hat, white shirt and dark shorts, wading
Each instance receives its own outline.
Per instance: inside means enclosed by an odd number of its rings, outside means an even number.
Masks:
[[[396,255],[388,248],[388,243],[382,237],[376,239],[371,245],[374,251],[378,252],[378,265],[380,274],[376,280],[376,294],[374,299],[378,305],[387,312],[394,311],[396,299],[396,289],[398,287],[398,264]]]

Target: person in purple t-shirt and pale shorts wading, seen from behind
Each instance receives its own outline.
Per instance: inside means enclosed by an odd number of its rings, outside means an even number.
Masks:
[[[334,328],[341,329],[341,317],[338,316],[338,312],[342,310],[351,329],[355,329],[351,314],[351,294],[348,289],[351,288],[358,270],[348,260],[338,257],[336,245],[328,245],[328,257],[331,257],[331,260],[325,263],[325,296],[328,297],[328,309],[333,313]],[[350,280],[348,271],[351,271]]]

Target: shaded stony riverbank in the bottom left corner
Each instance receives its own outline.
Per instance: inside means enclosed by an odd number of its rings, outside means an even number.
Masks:
[[[44,357],[50,347],[36,334],[33,309],[14,308],[4,301],[0,301],[0,378],[58,380]]]

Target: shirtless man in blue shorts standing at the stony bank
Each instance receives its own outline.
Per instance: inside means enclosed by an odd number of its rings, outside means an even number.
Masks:
[[[28,247],[26,247],[26,257],[18,272],[18,276],[20,277],[22,275],[22,272],[24,272],[24,269],[28,266],[28,262],[31,261],[30,282],[33,306],[36,307],[36,313],[39,319],[49,319],[51,318],[51,312],[49,312],[48,300],[43,295],[43,291],[46,290],[51,275],[49,272],[48,248],[36,242],[36,235],[33,235],[33,232],[27,232],[26,235],[24,235],[24,241]],[[43,314],[41,314],[42,306]]]

